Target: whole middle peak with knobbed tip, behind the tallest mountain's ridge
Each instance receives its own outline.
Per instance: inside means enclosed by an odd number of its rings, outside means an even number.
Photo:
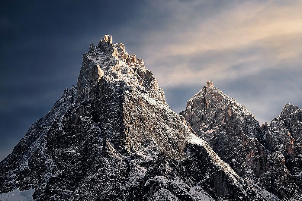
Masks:
[[[263,130],[251,112],[214,87],[211,80],[188,100],[186,110],[180,114],[239,176],[261,176],[258,164],[265,166],[266,152],[258,138],[263,136]],[[251,152],[253,157],[249,158]],[[252,172],[247,174],[249,169]]]

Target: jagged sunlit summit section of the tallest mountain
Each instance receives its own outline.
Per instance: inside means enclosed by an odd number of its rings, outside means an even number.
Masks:
[[[83,54],[78,78],[79,99],[88,98],[93,87],[105,80],[117,85],[131,86],[143,93],[150,93],[165,103],[164,92],[159,88],[153,73],[145,68],[142,58],[129,55],[124,44],[112,44],[112,37],[105,35],[98,46],[90,45]],[[103,81],[102,81],[103,80]]]

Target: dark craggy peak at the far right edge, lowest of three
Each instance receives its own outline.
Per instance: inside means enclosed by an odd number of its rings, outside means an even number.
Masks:
[[[272,153],[275,173],[272,191],[289,200],[302,199],[302,110],[297,106],[284,105],[281,114],[262,125],[264,146]]]

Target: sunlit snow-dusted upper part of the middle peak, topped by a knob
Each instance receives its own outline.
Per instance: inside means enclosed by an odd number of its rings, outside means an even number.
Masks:
[[[199,123],[196,126],[200,127],[203,123],[207,125],[203,128],[205,131],[223,125],[233,118],[237,118],[242,124],[245,124],[249,118],[253,124],[259,125],[255,116],[246,107],[237,103],[234,98],[223,94],[219,88],[214,87],[211,80],[208,80],[206,86],[188,100],[186,110],[181,114],[185,115],[184,113],[188,118],[197,117],[196,121]]]

